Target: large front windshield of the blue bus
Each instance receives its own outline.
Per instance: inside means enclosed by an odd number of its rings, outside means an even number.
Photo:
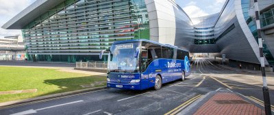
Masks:
[[[110,58],[108,60],[108,73],[137,73],[139,71],[136,48],[140,42],[126,42],[112,44]]]

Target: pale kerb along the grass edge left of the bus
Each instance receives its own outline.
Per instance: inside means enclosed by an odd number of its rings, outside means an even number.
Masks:
[[[43,99],[51,99],[51,98],[55,98],[55,97],[64,97],[67,95],[74,95],[77,93],[85,93],[85,92],[89,92],[89,91],[98,91],[98,90],[101,90],[104,88],[107,88],[107,86],[100,86],[100,87],[96,87],[96,88],[86,88],[86,89],[82,89],[82,90],[78,90],[78,91],[69,91],[69,92],[65,92],[65,93],[56,93],[53,95],[34,97],[34,98],[30,98],[30,99],[20,99],[20,100],[16,100],[16,101],[8,101],[8,102],[0,103],[0,107],[5,107],[8,105],[16,105],[16,104],[20,104],[20,103],[27,103],[27,102],[31,102],[31,101],[39,101],[39,100],[43,100]]]

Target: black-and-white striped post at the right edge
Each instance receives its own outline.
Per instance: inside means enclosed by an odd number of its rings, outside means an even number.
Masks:
[[[266,73],[264,67],[264,54],[262,49],[262,35],[261,35],[261,26],[260,26],[260,12],[258,7],[258,1],[254,0],[254,7],[255,7],[255,17],[256,17],[256,25],[257,25],[257,32],[258,32],[258,42],[260,48],[260,63],[261,63],[261,70],[262,70],[262,93],[264,95],[264,110],[266,115],[271,115],[271,104],[269,98],[269,88],[267,87],[266,83]]]

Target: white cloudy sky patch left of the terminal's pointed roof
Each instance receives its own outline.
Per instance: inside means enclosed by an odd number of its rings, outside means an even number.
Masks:
[[[0,0],[0,27],[34,1],[35,0]],[[0,35],[21,35],[21,31],[0,28]]]

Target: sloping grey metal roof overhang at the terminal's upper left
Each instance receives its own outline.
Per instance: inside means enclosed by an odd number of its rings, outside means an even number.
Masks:
[[[44,14],[48,10],[53,9],[55,5],[63,2],[64,0],[38,0],[29,5],[25,10],[14,16],[8,22],[3,24],[3,29],[23,29],[25,25],[32,22],[35,18]]]

